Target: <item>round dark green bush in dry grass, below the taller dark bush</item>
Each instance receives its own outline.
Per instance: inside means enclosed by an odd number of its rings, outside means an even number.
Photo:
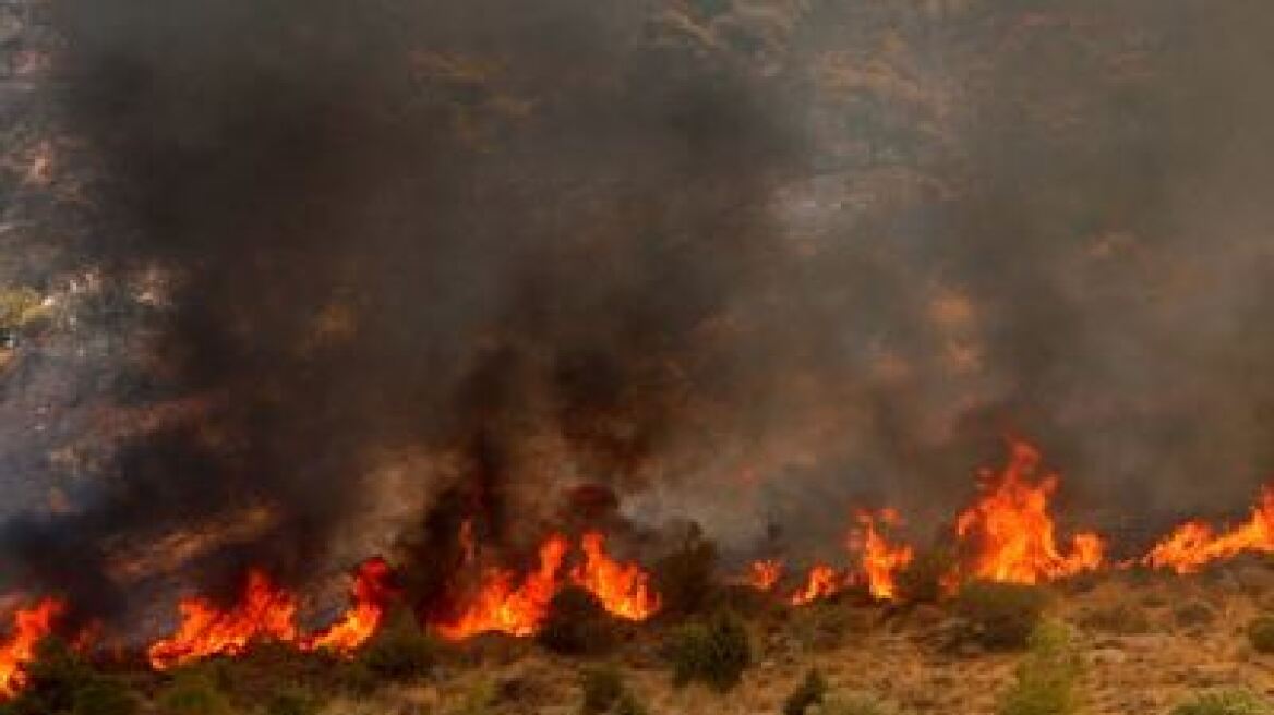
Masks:
[[[682,626],[668,655],[678,686],[701,682],[725,692],[739,684],[752,663],[752,644],[743,621],[730,611],[720,611],[707,621]]]

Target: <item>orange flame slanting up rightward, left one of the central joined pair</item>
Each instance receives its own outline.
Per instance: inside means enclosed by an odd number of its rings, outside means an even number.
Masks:
[[[487,571],[473,603],[455,622],[436,625],[438,634],[448,640],[484,632],[534,635],[548,613],[549,602],[558,592],[558,575],[568,547],[566,538],[549,537],[540,546],[539,569],[516,588],[516,575],[512,571]]]

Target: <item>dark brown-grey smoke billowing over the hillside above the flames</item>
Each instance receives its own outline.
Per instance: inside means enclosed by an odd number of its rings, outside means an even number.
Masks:
[[[3,478],[60,495],[11,580],[301,580],[440,504],[516,551],[581,485],[834,552],[855,505],[927,537],[1010,436],[1068,523],[1241,510],[1274,6],[915,5],[62,0],[94,211],[34,275],[112,298],[0,378]]]

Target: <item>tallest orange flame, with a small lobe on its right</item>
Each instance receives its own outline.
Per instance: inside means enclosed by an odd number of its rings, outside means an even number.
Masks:
[[[1038,464],[1038,450],[1018,441],[1003,473],[982,472],[981,500],[956,522],[957,536],[977,548],[973,576],[1034,584],[1102,565],[1105,545],[1097,534],[1077,534],[1069,555],[1057,547],[1049,499],[1059,477],[1047,475],[1032,483]]]

